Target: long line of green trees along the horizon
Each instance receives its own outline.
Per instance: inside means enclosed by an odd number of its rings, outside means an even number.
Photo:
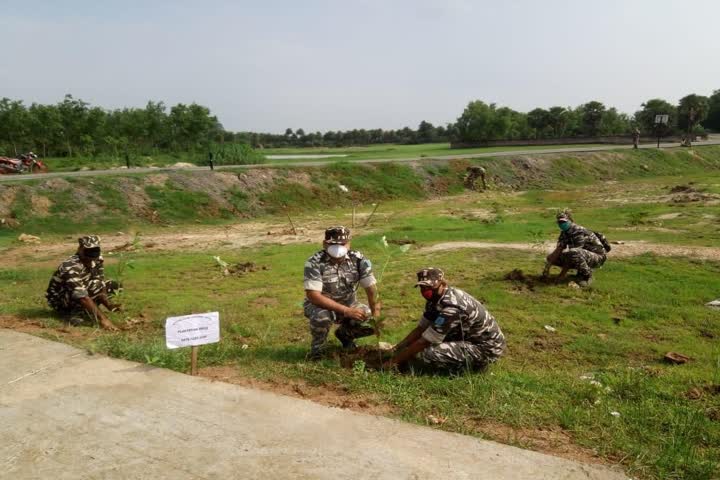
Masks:
[[[669,115],[658,129],[655,116]],[[168,108],[149,101],[144,108],[106,110],[66,95],[52,105],[0,100],[0,154],[34,150],[42,156],[153,155],[174,152],[209,152],[225,145],[272,147],[345,147],[372,144],[419,144],[458,141],[542,139],[598,135],[627,135],[638,128],[644,135],[720,131],[720,90],[709,97],[687,95],[673,105],[654,98],[633,116],[598,101],[576,108],[535,108],[527,113],[494,103],[468,103],[455,123],[435,126],[422,121],[416,129],[353,129],[284,133],[231,132],[210,109],[191,103]]]

